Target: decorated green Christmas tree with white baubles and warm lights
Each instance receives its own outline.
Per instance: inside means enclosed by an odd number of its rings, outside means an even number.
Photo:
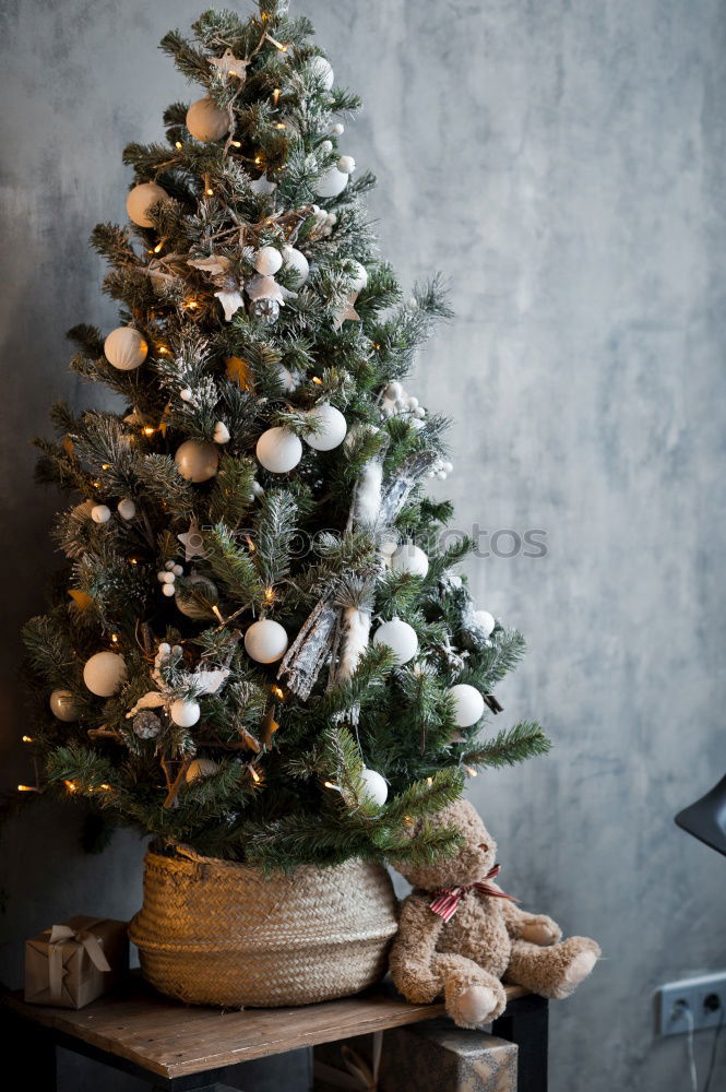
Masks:
[[[523,640],[440,545],[445,422],[402,385],[444,293],[380,258],[312,33],[260,0],[162,41],[202,97],[126,149],[131,224],[92,235],[120,325],[74,328],[71,369],[121,408],[36,441],[71,507],[24,632],[34,787],[265,868],[430,859],[456,832],[414,819],[548,746],[484,716]]]

